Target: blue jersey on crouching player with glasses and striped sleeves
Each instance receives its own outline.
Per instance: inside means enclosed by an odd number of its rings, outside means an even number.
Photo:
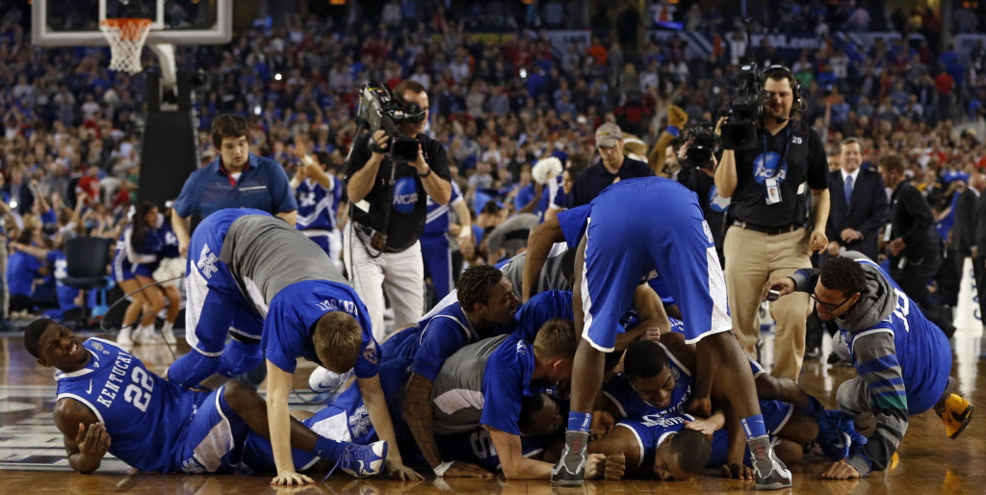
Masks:
[[[869,259],[856,261],[879,267]],[[945,333],[925,318],[918,305],[904,294],[900,286],[882,269],[880,274],[896,294],[897,302],[893,313],[870,329],[858,332],[843,329],[842,334],[852,350],[853,341],[861,336],[879,331],[893,333],[894,352],[900,364],[904,388],[907,390],[908,412],[918,414],[931,409],[938,402],[949,382],[951,346]],[[867,363],[857,363],[858,368],[867,366]],[[861,369],[860,374],[863,372]]]

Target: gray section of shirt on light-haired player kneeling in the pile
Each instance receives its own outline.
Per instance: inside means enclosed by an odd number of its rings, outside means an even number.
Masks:
[[[462,347],[442,365],[432,388],[432,429],[436,435],[475,430],[483,413],[483,375],[490,355],[510,335]]]

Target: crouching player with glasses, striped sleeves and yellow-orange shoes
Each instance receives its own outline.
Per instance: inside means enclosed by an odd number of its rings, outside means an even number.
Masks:
[[[781,296],[810,293],[818,317],[838,323],[860,374],[839,386],[839,408],[855,414],[857,423],[876,421],[866,447],[833,463],[823,476],[855,478],[885,469],[912,414],[934,408],[951,439],[968,425],[972,404],[951,392],[948,337],[866,255],[849,251],[829,258],[820,270],[803,268],[768,280],[763,296],[771,289]]]

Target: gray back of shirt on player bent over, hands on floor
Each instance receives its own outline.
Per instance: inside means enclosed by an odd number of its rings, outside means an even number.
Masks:
[[[219,259],[230,267],[240,291],[263,317],[274,296],[291,284],[328,280],[349,285],[321,247],[277,217],[237,219],[226,234]]]

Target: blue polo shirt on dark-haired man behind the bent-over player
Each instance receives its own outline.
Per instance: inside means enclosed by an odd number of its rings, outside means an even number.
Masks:
[[[281,164],[249,155],[239,180],[220,167],[219,159],[188,176],[175,202],[181,218],[207,217],[223,208],[255,208],[271,214],[298,209],[294,190]]]

